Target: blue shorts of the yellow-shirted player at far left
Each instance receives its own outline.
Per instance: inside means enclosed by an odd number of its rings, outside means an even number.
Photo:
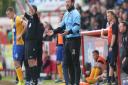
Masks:
[[[24,60],[24,46],[13,45],[13,60],[23,61]]]

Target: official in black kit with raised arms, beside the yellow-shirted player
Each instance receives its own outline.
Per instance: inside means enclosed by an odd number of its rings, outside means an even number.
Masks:
[[[26,0],[26,4],[29,7],[29,14],[24,12],[24,17],[28,20],[25,33],[26,85],[31,85],[31,82],[32,85],[37,85],[42,64],[44,29],[37,14],[37,7],[30,5],[28,0]]]

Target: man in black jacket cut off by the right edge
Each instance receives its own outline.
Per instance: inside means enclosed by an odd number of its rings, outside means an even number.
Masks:
[[[122,69],[128,74],[128,24],[126,22],[120,22],[119,30],[122,33],[122,46],[123,46],[123,60]]]

